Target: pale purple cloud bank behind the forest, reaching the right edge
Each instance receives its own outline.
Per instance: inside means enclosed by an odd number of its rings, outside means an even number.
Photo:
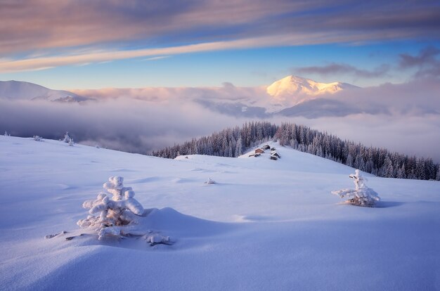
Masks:
[[[301,114],[273,120],[306,124],[367,146],[432,157],[440,162],[438,96],[440,82],[420,78],[321,96],[298,105]]]

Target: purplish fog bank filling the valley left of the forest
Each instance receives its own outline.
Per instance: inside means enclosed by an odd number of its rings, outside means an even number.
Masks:
[[[69,131],[77,142],[132,153],[149,153],[237,122],[236,118],[203,110],[196,103],[173,105],[133,99],[82,105],[0,101],[0,128],[14,136],[58,139]]]

